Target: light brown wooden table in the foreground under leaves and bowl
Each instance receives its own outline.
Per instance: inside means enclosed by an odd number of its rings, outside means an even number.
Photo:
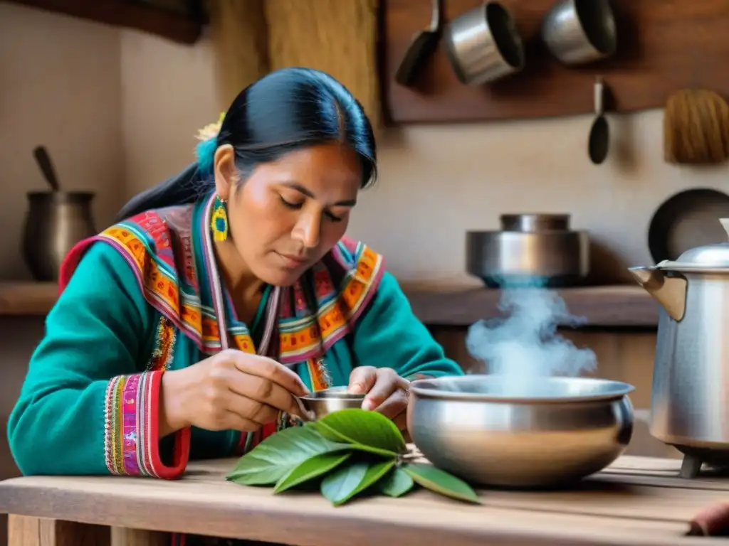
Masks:
[[[272,495],[227,483],[233,460],[190,464],[184,479],[14,478],[0,483],[10,546],[152,545],[181,531],[300,546],[729,545],[686,537],[689,521],[729,500],[729,479],[678,478],[680,462],[623,456],[577,490],[482,490],[483,506],[429,491],[334,508],[317,494]],[[109,528],[112,532],[109,532]],[[125,529],[122,529],[125,528]],[[112,537],[110,539],[110,537]]]

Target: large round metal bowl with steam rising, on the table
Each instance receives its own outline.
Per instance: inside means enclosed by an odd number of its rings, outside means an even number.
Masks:
[[[413,442],[434,465],[465,480],[515,488],[580,480],[628,446],[632,385],[554,377],[518,387],[524,395],[510,395],[503,377],[484,375],[413,381]]]

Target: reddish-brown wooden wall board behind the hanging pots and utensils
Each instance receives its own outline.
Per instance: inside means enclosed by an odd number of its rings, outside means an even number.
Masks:
[[[662,107],[681,87],[707,87],[729,95],[729,0],[612,0],[618,47],[612,60],[566,68],[546,50],[539,29],[556,0],[502,0],[526,43],[521,74],[481,87],[462,85],[443,41],[427,64],[424,84],[410,90],[394,82],[413,33],[430,21],[428,0],[383,0],[383,91],[392,122],[459,122],[537,118],[593,112],[599,74],[612,90],[614,108]],[[443,2],[446,20],[481,0]]]

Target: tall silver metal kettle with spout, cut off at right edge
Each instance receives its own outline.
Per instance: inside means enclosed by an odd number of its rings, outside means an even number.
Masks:
[[[684,454],[682,476],[729,466],[729,242],[630,272],[660,304],[651,435]]]

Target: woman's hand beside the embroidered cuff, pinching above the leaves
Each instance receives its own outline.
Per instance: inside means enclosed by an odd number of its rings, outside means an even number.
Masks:
[[[300,415],[294,396],[309,390],[293,371],[267,357],[228,349],[182,370],[165,371],[160,438],[190,425],[253,432],[279,411]]]

